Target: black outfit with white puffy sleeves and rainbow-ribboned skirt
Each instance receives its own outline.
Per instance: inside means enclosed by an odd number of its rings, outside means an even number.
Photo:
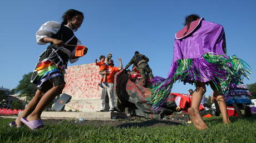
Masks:
[[[44,37],[62,40],[69,45],[81,44],[70,27],[54,21],[43,24],[37,31],[36,37],[38,44],[46,44],[41,41]],[[54,86],[65,84],[64,73],[68,60],[71,63],[78,60],[78,58],[72,58],[75,55],[75,51],[75,46],[57,47],[57,45],[51,43],[40,55],[36,68],[33,70],[31,83],[37,84],[39,89],[42,88],[42,84],[47,80],[51,80]]]

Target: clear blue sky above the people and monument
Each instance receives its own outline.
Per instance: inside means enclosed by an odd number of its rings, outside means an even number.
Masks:
[[[88,47],[85,57],[71,65],[93,63],[101,54],[112,53],[124,66],[136,50],[145,54],[154,75],[166,77],[173,59],[175,33],[184,18],[199,14],[206,21],[223,25],[228,55],[237,55],[255,75],[256,1],[3,1],[1,18],[0,86],[16,88],[24,74],[33,70],[47,45],[36,43],[35,33],[47,21],[61,22],[67,9],[77,9],[85,19],[76,36]],[[188,93],[193,85],[176,83],[174,93]],[[206,95],[211,93],[208,87]]]

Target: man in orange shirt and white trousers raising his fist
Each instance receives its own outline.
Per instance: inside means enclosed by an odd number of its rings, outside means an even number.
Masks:
[[[106,95],[109,95],[109,106],[110,109],[109,111],[114,111],[114,76],[117,72],[119,72],[119,70],[122,69],[122,59],[118,58],[119,62],[120,62],[120,67],[114,67],[114,62],[112,59],[109,60],[109,66],[106,69],[107,72],[107,84],[108,86],[106,86],[105,84],[103,84],[104,88],[101,89],[101,110],[100,111],[105,111],[105,98]]]

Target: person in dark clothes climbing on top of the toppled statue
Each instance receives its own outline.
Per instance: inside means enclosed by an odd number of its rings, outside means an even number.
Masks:
[[[152,74],[152,70],[150,69],[149,64],[147,64],[147,62],[149,62],[149,58],[136,51],[134,53],[134,57],[132,57],[130,62],[125,66],[125,69],[128,69],[131,64],[134,64],[134,66],[137,67],[137,70],[140,71],[144,87],[147,87],[146,74],[149,75],[150,79],[154,77]]]

